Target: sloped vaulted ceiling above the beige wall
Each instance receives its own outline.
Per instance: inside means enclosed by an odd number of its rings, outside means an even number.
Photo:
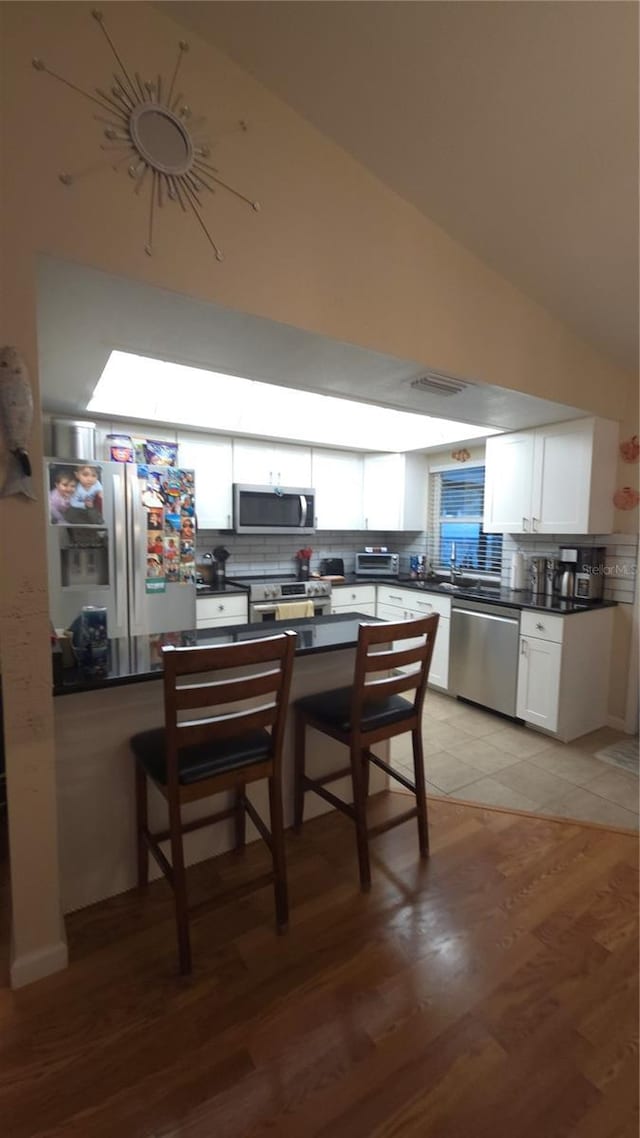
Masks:
[[[638,5],[163,2],[454,239],[638,366]]]

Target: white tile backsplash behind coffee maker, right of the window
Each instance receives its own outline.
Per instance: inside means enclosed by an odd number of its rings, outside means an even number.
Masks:
[[[502,542],[501,580],[509,586],[511,575],[511,558],[516,550],[527,556],[557,556],[560,546],[604,545],[605,558],[605,599],[618,601],[622,604],[633,604],[635,597],[635,579],[638,575],[638,535],[637,534],[601,534],[580,537],[575,534],[504,534]]]

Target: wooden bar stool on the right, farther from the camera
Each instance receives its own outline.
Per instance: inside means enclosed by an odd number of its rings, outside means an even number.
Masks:
[[[369,890],[371,871],[369,839],[410,818],[417,818],[420,856],[429,850],[427,797],[422,751],[422,706],[438,624],[437,615],[418,620],[384,624],[361,624],[355,654],[355,673],[351,687],[306,695],[295,708],[295,790],[294,828],[300,830],[304,813],[304,795],[314,791],[355,824],[360,884]],[[385,645],[380,649],[380,645]],[[404,671],[402,669],[407,668]],[[412,692],[403,699],[400,692]],[[330,735],[350,750],[350,766],[310,778],[305,770],[306,728]],[[375,743],[411,732],[415,782],[371,751]],[[410,810],[377,826],[367,823],[369,764],[401,783],[416,795]],[[327,783],[351,775],[353,802],[344,802],[327,790]]]

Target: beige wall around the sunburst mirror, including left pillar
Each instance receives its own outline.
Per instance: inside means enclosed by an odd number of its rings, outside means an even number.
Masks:
[[[2,6],[1,343],[18,346],[38,399],[34,261],[44,251],[216,300],[369,348],[584,410],[637,420],[635,382],[485,269],[437,226],[240,72],[190,38],[180,88],[212,127],[247,118],[216,149],[223,192],[206,217],[219,264],[192,218],[165,206],[143,251],[147,205],[100,159],[91,105],[31,66],[40,56],[91,90],[109,49],[84,3]],[[181,32],[157,7],[104,6],[132,71],[169,76]],[[213,130],[212,130],[213,135]],[[41,453],[36,417],[31,450]],[[14,982],[61,963],[42,503],[0,503],[0,646],[6,696],[14,889]],[[627,522],[629,519],[623,519]],[[10,541],[7,535],[10,534]],[[19,558],[17,552],[19,551]],[[623,637],[624,638],[624,637]],[[625,634],[629,644],[629,632]],[[624,655],[624,649],[623,649]],[[90,741],[88,741],[90,745]]]

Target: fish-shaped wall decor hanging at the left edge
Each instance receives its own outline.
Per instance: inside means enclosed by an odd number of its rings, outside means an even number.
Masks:
[[[17,348],[6,345],[0,348],[0,431],[9,452],[9,464],[0,497],[24,494],[35,500],[26,450],[32,422],[28,368]]]

